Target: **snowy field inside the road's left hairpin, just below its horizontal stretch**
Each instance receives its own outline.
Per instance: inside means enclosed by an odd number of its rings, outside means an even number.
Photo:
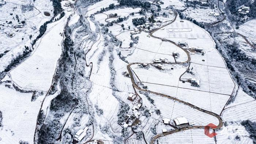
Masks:
[[[173,70],[166,69],[164,71],[155,68],[150,65],[149,69],[139,68],[137,65],[132,65],[133,71],[139,77],[141,82],[153,83],[153,84],[163,84],[167,86],[178,86],[179,76],[187,70],[184,65],[172,65]]]

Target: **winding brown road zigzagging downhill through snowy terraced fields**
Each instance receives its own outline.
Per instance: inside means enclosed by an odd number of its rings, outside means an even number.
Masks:
[[[173,20],[171,23],[173,23],[173,22],[176,20],[176,18],[177,18],[177,12],[176,12],[176,16],[175,16],[174,20]],[[169,23],[169,24],[170,24],[170,23]],[[167,26],[167,25],[168,25],[168,24],[166,24],[166,25],[164,25],[164,26],[162,26],[162,27],[165,27],[165,26]],[[163,39],[163,38],[159,38],[159,37],[155,37],[155,36],[153,35],[153,33],[154,33],[155,31],[161,29],[162,27],[160,27],[160,28],[158,28],[158,29],[156,29],[156,30],[150,32],[150,36],[151,36],[151,37],[154,37],[154,38],[157,38],[157,39],[161,39],[162,41],[167,41],[167,42],[173,43],[174,45],[178,46],[179,48],[181,48],[182,50],[184,50],[184,52],[187,54],[188,60],[185,61],[185,62],[169,62],[169,63],[161,63],[161,64],[184,64],[184,63],[190,62],[190,61],[191,61],[191,57],[190,57],[189,52],[188,52],[187,50],[185,50],[185,49],[182,48],[181,46],[177,45],[177,44],[176,44],[175,42],[173,42],[173,41],[170,41],[170,40],[167,40],[167,39]],[[132,75],[132,72],[131,72],[131,65],[133,65],[133,64],[142,64],[142,63],[140,63],[140,62],[134,62],[134,63],[130,63],[130,64],[127,65],[127,70],[128,70],[128,72],[129,72],[129,74],[131,75],[131,81],[132,81],[133,87],[135,87],[136,89],[138,89],[138,90],[140,90],[140,91],[150,92],[150,93],[152,93],[152,94],[161,95],[161,96],[163,96],[163,97],[173,99],[174,101],[181,102],[181,103],[183,103],[184,105],[188,105],[188,106],[192,107],[193,109],[196,109],[196,110],[198,110],[198,111],[201,111],[201,112],[206,113],[206,114],[209,114],[209,115],[212,115],[212,116],[216,117],[216,118],[219,120],[219,124],[217,125],[217,127],[216,127],[215,129],[219,129],[219,128],[222,127],[222,125],[223,125],[222,119],[221,119],[221,117],[220,117],[218,114],[216,114],[216,113],[212,113],[211,111],[201,109],[200,107],[197,107],[197,106],[192,105],[191,103],[188,103],[188,102],[185,102],[185,101],[181,101],[180,99],[174,98],[174,97],[172,97],[172,96],[165,95],[165,94],[161,94],[161,93],[159,93],[159,92],[154,92],[154,91],[145,90],[145,89],[142,89],[142,88],[138,87],[138,86],[136,85],[134,79],[133,79],[133,75]],[[150,63],[150,64],[152,64],[152,63]],[[157,135],[153,136],[153,138],[150,140],[150,144],[153,144],[154,141],[155,141],[156,139],[158,139],[159,137],[166,136],[166,135],[169,135],[169,134],[172,134],[172,133],[176,133],[176,132],[180,132],[180,131],[182,131],[182,130],[195,129],[195,128],[204,128],[204,126],[192,126],[192,127],[189,127],[189,128],[181,128],[181,129],[172,130],[172,131],[169,131],[169,132],[166,132],[166,133],[157,134]]]

